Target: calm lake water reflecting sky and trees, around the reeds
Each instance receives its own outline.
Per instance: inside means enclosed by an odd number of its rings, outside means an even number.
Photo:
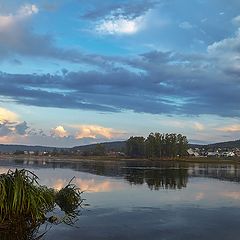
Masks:
[[[28,168],[59,189],[75,176],[90,206],[76,227],[50,239],[240,239],[240,166],[154,162],[0,161],[0,173]]]

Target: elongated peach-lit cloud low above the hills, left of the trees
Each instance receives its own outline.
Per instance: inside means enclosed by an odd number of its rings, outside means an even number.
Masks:
[[[113,137],[119,136],[123,133],[116,131],[112,128],[106,128],[99,125],[74,125],[78,129],[76,134],[76,139],[82,138],[93,138],[103,137],[105,139],[111,139]]]

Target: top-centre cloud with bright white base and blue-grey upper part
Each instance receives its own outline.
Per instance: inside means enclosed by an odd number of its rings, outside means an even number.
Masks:
[[[160,3],[153,0],[134,0],[131,3],[122,0],[105,1],[102,6],[98,6],[95,1],[90,2],[95,5],[94,9],[82,17],[95,21],[97,33],[109,35],[130,35],[139,32],[145,27],[146,14]]]

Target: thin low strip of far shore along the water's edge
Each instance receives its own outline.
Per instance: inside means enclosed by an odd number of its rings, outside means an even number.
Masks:
[[[11,155],[0,154],[1,160],[29,160],[29,161],[52,161],[52,162],[78,162],[78,161],[156,161],[156,162],[182,162],[182,163],[216,163],[216,164],[240,164],[240,157],[216,158],[216,157],[185,157],[175,159],[146,159],[146,158],[127,158],[113,156],[33,156],[33,155]]]

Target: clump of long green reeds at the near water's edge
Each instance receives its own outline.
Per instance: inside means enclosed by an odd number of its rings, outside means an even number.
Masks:
[[[33,172],[9,170],[0,175],[0,239],[33,239],[45,222],[72,224],[81,203],[80,189],[71,181],[56,191],[41,186]],[[64,215],[47,217],[57,206]]]

